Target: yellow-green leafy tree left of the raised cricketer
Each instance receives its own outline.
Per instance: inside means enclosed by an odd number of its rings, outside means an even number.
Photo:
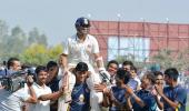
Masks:
[[[20,59],[27,64],[44,65],[50,60],[57,61],[61,52],[62,52],[61,46],[47,48],[43,44],[33,43],[23,53],[20,54]]]

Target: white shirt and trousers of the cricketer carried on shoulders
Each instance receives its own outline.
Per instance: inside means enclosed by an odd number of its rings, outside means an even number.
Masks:
[[[93,54],[99,53],[99,44],[93,36],[88,34],[83,42],[80,41],[77,34],[68,38],[67,43],[63,46],[64,50],[62,53],[68,56],[68,67],[76,68],[79,62],[86,62],[91,71],[91,75],[88,78],[87,83],[90,92],[90,105],[91,111],[100,111],[99,103],[103,100],[101,92],[93,90],[94,83],[100,83],[100,77],[96,73],[92,64],[94,61]]]

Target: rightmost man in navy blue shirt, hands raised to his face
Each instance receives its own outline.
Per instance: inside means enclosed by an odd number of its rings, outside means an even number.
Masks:
[[[160,107],[163,111],[186,111],[187,91],[178,84],[179,72],[176,68],[169,68],[165,71],[165,81],[168,87],[163,90],[156,85],[156,90],[161,97]]]

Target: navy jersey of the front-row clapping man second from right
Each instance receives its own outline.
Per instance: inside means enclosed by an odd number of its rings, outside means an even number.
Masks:
[[[131,103],[133,111],[156,111],[157,103],[155,97],[148,90],[139,90],[135,92],[137,97],[139,97],[143,102],[145,107],[141,108],[133,98],[131,98]]]

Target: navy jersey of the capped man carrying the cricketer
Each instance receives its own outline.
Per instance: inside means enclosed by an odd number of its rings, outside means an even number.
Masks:
[[[90,91],[87,83],[74,84],[71,93],[70,111],[89,111]]]

